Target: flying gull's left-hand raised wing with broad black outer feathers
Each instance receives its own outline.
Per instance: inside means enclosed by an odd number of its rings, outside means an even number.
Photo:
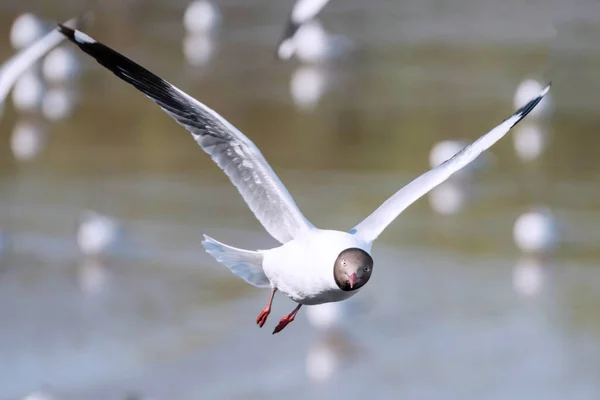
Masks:
[[[183,125],[227,174],[271,236],[285,243],[314,229],[258,148],[227,120],[85,33],[62,25],[59,29],[84,52],[135,86]]]

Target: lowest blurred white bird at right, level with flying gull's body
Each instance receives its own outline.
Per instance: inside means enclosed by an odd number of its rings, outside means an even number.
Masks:
[[[517,218],[513,237],[517,247],[524,253],[549,254],[559,244],[558,223],[549,208],[536,207]]]

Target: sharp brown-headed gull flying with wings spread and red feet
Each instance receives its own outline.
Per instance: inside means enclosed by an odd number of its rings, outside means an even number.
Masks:
[[[500,140],[550,90],[548,84],[500,125],[400,189],[350,231],[323,230],[304,217],[260,150],[225,118],[87,34],[65,26],[60,26],[60,31],[184,126],[229,177],[267,232],[281,243],[272,249],[252,251],[207,235],[202,242],[206,251],[235,275],[256,287],[270,288],[267,305],[256,319],[260,327],[271,312],[277,291],[298,303],[279,321],[274,334],[292,322],[303,305],[342,301],[355,295],[371,277],[371,246],[384,229],[408,206]]]

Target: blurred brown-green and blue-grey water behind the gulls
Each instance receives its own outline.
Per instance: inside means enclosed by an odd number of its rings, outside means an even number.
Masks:
[[[44,121],[9,102],[0,121],[0,398],[42,387],[60,399],[600,398],[597,3],[333,1],[323,24],[355,49],[314,67],[328,83],[308,108],[290,94],[301,66],[275,61],[292,2],[217,4],[223,26],[201,66],[186,62],[180,0],[101,2],[87,31],[246,133],[319,227],[351,228],[429,168],[434,143],[494,127],[528,77],[554,84],[545,151],[523,161],[507,137],[460,212],[436,214],[424,198],[385,231],[356,297],[363,311],[344,321],[352,355],[315,383],[307,354],[327,340],[304,310],[273,336],[293,308],[276,297],[258,329],[267,292],[200,244],[203,233],[249,249],[276,242],[183,128],[76,53],[70,115]],[[74,1],[1,7],[3,58],[20,13],[82,11]],[[27,160],[11,150],[22,120],[45,129]],[[512,226],[538,204],[563,243],[538,271],[541,291],[522,295]],[[85,209],[124,227],[108,260],[78,253]]]

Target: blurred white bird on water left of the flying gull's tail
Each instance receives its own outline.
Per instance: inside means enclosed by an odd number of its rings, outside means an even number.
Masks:
[[[83,212],[77,221],[77,245],[86,257],[104,257],[118,244],[119,222],[95,211]]]

